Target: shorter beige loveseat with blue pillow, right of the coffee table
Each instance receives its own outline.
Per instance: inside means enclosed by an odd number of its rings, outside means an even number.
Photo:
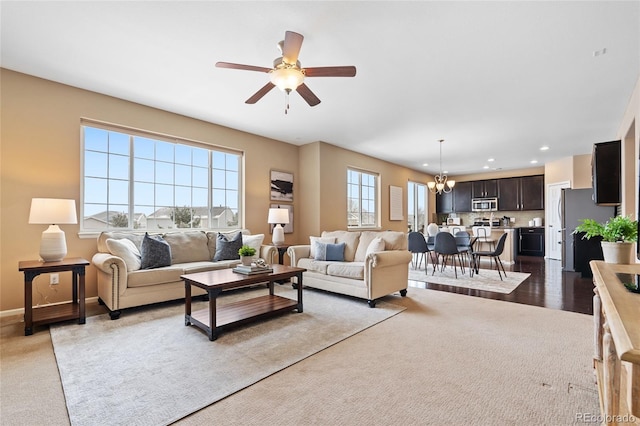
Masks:
[[[344,261],[317,260],[310,245],[288,248],[291,265],[305,268],[305,287],[366,299],[375,307],[376,299],[400,292],[407,294],[411,253],[407,250],[407,235],[397,231],[332,231],[323,232],[312,242],[341,245]],[[320,247],[314,246],[314,247]]]

